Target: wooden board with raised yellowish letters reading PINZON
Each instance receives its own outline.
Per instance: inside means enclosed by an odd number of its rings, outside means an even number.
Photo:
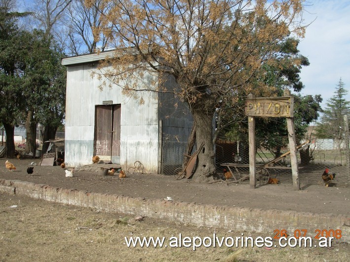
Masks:
[[[245,115],[293,117],[293,97],[248,98],[245,101]]]

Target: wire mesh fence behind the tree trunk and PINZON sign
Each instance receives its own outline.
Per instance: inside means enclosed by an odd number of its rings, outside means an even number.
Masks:
[[[256,144],[261,144],[259,139],[262,138],[256,138]],[[343,178],[342,181],[347,182],[347,177],[350,177],[350,167],[347,163],[345,144],[345,139],[337,141],[333,139],[302,141],[301,146],[297,150],[299,174],[306,179],[309,175],[310,177],[313,175],[319,178],[327,167],[332,173],[339,174]],[[163,174],[174,175],[176,168],[183,168],[182,161],[185,148],[185,142],[163,142]],[[194,150],[196,149],[194,148]],[[280,155],[284,155],[284,157],[274,162]],[[269,168],[270,177],[286,177],[287,180],[290,180],[290,183],[292,183],[292,170],[288,146],[281,147],[279,150],[268,150],[263,147],[257,147],[255,157],[257,165],[264,165],[272,162]],[[218,173],[223,172],[225,163],[240,164],[239,171],[248,174],[248,144],[243,141],[218,141],[215,144],[215,166]]]

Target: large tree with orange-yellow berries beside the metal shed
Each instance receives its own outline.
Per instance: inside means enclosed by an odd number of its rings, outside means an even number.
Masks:
[[[94,0],[86,2],[92,6]],[[217,108],[237,101],[241,90],[274,93],[259,76],[264,66],[278,63],[281,41],[303,36],[302,1],[104,0],[103,6],[109,12],[101,17],[100,29],[117,43],[120,55],[105,61],[112,69],[100,73],[126,95],[144,90],[132,84],[144,70],[161,79],[172,75],[177,88],[160,85],[152,91],[173,92],[189,105],[196,144],[203,145],[193,179],[208,181],[215,174],[212,119]]]

